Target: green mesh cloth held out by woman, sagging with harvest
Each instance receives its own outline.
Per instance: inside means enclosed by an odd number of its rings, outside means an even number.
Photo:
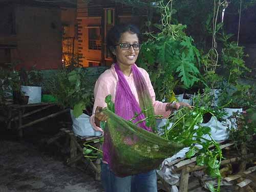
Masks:
[[[136,124],[124,120],[107,108],[104,144],[110,153],[110,168],[125,177],[157,168],[161,162],[180,151],[184,145],[166,140]]]

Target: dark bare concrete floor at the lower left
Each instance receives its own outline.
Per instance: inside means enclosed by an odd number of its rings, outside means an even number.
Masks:
[[[0,141],[0,192],[102,191],[93,175],[65,165],[25,141]]]

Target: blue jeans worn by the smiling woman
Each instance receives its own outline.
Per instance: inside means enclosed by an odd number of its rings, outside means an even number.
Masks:
[[[134,176],[117,177],[101,163],[101,181],[105,192],[157,192],[156,170]]]

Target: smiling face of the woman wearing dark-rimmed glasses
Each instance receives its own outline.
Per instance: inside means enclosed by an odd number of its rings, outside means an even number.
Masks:
[[[124,32],[121,34],[119,41],[116,44],[138,44],[139,38],[137,34],[130,32]],[[134,50],[133,46],[130,46],[129,50],[122,50],[120,46],[116,46],[113,54],[116,56],[116,60],[119,65],[123,67],[132,66],[138,58],[139,50]]]

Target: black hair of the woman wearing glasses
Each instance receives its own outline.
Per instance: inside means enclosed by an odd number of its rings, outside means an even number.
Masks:
[[[111,54],[115,48],[116,43],[119,41],[122,33],[130,32],[131,34],[137,34],[140,41],[140,30],[132,24],[120,24],[112,27],[106,35],[106,46],[109,48]],[[114,55],[112,54],[115,60]]]

